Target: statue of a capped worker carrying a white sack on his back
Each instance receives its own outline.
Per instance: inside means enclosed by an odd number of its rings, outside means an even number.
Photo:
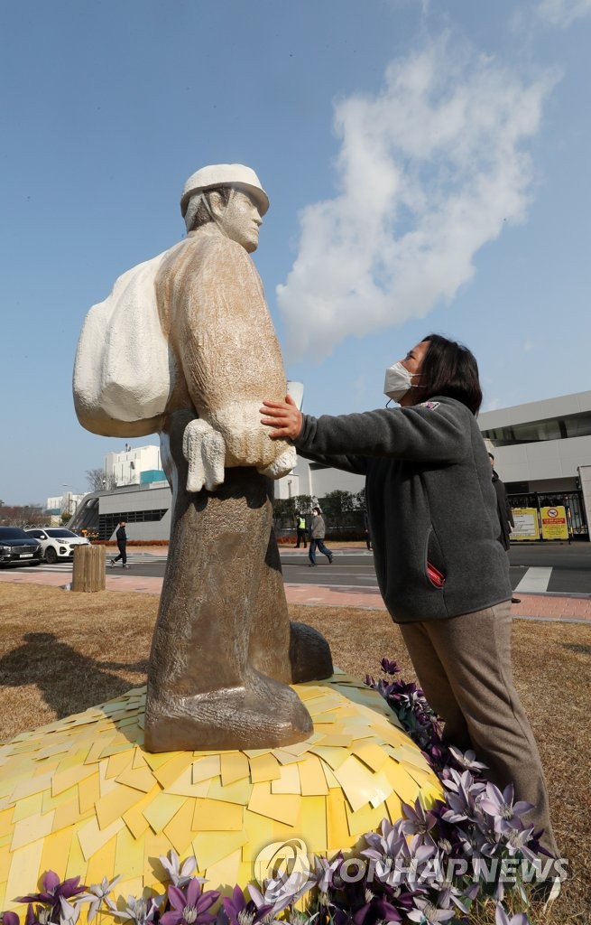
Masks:
[[[163,338],[168,362],[163,408],[162,400],[136,395],[136,412],[126,413],[133,420],[115,421],[117,376],[112,370],[109,384],[109,376],[95,370],[111,403],[103,401],[106,412],[93,412],[83,383],[92,378],[83,369],[84,330],[78,345],[74,392],[81,423],[117,436],[158,430],[173,489],[148,676],[151,751],[257,748],[306,738],[312,731],[308,711],[287,685],[332,673],[323,637],[289,623],[272,530],[272,479],[293,467],[295,450],[272,441],[259,423],[262,399],[283,398],[286,390],[281,351],[249,256],[268,207],[249,167],[203,167],[187,180],[181,200],[187,239],[139,265],[140,283],[124,275],[115,284],[111,298],[131,292],[141,309],[141,292],[149,291],[155,301],[161,330],[152,340]]]

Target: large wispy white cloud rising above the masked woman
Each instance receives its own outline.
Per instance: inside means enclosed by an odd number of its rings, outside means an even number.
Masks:
[[[523,221],[524,142],[555,76],[529,83],[493,59],[433,43],[387,68],[382,91],[335,108],[338,195],[306,206],[277,298],[290,359],[424,317],[474,273],[503,224]]]

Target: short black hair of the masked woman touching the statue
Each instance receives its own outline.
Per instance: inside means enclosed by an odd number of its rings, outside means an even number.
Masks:
[[[461,401],[476,415],[482,404],[482,389],[474,353],[463,344],[440,334],[428,334],[423,341],[428,341],[428,350],[416,385],[418,401],[445,395]]]

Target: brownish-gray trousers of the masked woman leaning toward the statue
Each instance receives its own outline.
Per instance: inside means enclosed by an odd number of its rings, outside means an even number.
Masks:
[[[416,676],[445,722],[443,741],[473,748],[501,790],[533,803],[525,825],[543,828],[541,844],[558,857],[536,740],[513,686],[511,602],[447,620],[399,623]]]

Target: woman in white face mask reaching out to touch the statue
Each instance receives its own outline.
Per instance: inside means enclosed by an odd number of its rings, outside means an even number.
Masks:
[[[400,408],[303,415],[289,398],[265,401],[271,438],[366,475],[381,595],[444,740],[474,748],[501,789],[534,804],[528,825],[557,855],[544,773],[513,687],[511,585],[498,540],[490,462],[476,424],[482,401],[472,353],[431,334],[386,372]]]

